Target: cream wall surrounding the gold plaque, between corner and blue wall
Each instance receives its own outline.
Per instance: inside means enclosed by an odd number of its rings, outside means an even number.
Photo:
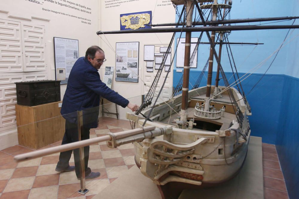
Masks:
[[[113,3],[113,4],[112,4]],[[156,4],[157,3],[157,4]],[[160,6],[158,6],[160,5]],[[110,7],[114,6],[114,7]],[[100,1],[100,29],[101,31],[120,30],[120,14],[135,13],[142,11],[152,11],[152,24],[172,23],[175,22],[175,9],[170,1],[162,0],[106,0]],[[132,42],[139,41],[139,79],[138,83],[115,81],[113,77],[112,89],[117,91],[129,101],[141,105],[141,95],[144,94],[143,74],[144,67],[144,45],[156,44],[168,45],[173,33],[134,33],[134,34],[114,34],[100,35],[100,47],[105,51],[107,61],[103,66],[115,67],[115,43],[116,42]],[[111,47],[110,47],[111,45]],[[174,48],[172,47],[172,50]],[[173,56],[173,54],[172,54]],[[100,75],[103,77],[105,67],[100,69]],[[173,70],[171,70],[173,71]],[[172,84],[173,74],[169,74]],[[150,86],[150,85],[149,85]],[[139,96],[139,97],[135,97]],[[109,106],[108,106],[109,107]],[[106,107],[105,107],[106,108]],[[115,106],[111,105],[108,108],[111,112],[115,112]],[[124,119],[126,112],[131,112],[128,108],[120,107],[120,118]]]

